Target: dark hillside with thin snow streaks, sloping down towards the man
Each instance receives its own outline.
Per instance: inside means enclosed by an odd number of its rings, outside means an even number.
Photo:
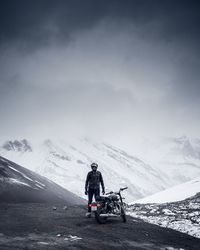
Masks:
[[[84,204],[59,185],[0,156],[0,202]]]

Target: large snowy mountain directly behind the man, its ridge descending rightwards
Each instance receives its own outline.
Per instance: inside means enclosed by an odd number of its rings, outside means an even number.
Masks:
[[[7,141],[2,142],[0,154],[82,197],[85,197],[85,178],[93,161],[99,164],[107,191],[129,187],[124,194],[129,202],[172,185],[161,170],[109,144],[86,138],[73,142]]]

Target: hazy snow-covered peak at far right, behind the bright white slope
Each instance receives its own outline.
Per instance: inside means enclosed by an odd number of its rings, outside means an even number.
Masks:
[[[146,142],[141,158],[168,175],[173,185],[200,176],[200,140],[186,136]]]

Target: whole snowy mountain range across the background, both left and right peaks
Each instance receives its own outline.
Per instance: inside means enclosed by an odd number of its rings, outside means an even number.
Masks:
[[[90,163],[97,162],[106,190],[128,186],[127,202],[141,199],[200,176],[200,140],[162,139],[146,143],[137,157],[108,143],[91,139],[8,140],[0,154],[85,198],[84,183]]]

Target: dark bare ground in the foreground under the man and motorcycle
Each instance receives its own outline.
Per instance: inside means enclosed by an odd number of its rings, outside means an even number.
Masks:
[[[99,225],[85,212],[85,206],[1,203],[0,249],[200,249],[200,239],[172,229],[132,217]]]

